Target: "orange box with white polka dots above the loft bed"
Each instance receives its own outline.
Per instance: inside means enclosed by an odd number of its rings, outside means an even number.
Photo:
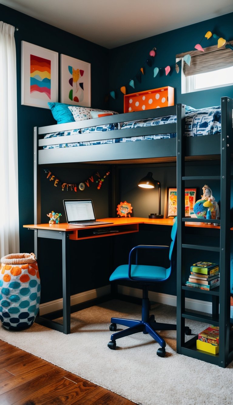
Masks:
[[[174,87],[159,87],[124,96],[124,113],[174,105]]]

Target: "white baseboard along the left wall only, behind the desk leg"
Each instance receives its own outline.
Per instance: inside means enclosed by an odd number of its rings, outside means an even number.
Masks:
[[[80,292],[79,294],[72,295],[70,297],[70,305],[76,305],[83,303],[85,301],[93,300],[94,298],[102,297],[108,295],[111,292],[110,285],[96,288],[94,290],[89,290],[85,292]],[[48,303],[40,304],[40,315],[45,315],[46,313],[59,311],[63,308],[62,298]]]

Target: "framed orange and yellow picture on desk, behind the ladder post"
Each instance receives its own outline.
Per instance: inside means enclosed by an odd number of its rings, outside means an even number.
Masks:
[[[185,198],[185,216],[186,217],[196,217],[193,207],[196,202],[197,189],[196,188],[185,188],[184,190]],[[176,217],[177,216],[177,188],[168,187],[167,188],[167,208],[166,217]]]

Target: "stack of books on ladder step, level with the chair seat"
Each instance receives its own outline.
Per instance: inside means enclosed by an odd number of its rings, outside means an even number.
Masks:
[[[197,262],[191,266],[189,280],[185,285],[201,290],[212,290],[220,284],[219,266],[216,263]]]

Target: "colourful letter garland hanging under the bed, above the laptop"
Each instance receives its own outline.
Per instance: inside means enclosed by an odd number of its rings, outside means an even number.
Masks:
[[[77,184],[70,184],[70,183],[66,183],[65,181],[61,181],[59,180],[49,169],[44,169],[44,173],[47,175],[47,179],[49,179],[49,181],[53,181],[53,185],[55,187],[57,187],[57,185],[61,186],[61,191],[75,191],[77,192]],[[97,180],[95,181],[95,183],[97,183],[97,190],[100,190],[102,183],[104,182],[104,180],[106,179],[106,177],[110,174],[110,171],[107,171],[105,173],[105,175],[103,177],[100,176],[100,174],[97,172],[94,175],[92,175],[91,177],[89,177],[87,180],[85,180],[84,182],[81,182],[78,184],[78,188],[80,191],[83,191],[85,189],[85,184],[87,185],[87,187],[90,187],[91,183],[94,183],[94,176],[97,176]],[[91,183],[89,183],[89,181]]]

